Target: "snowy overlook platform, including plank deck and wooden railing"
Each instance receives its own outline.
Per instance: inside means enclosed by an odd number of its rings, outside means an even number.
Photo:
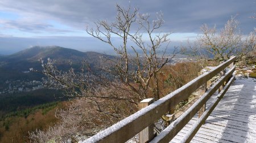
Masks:
[[[81,142],[126,142],[138,133],[139,142],[151,143],[256,142],[256,79],[237,77],[233,83],[235,59],[230,57],[155,102],[140,102],[141,110]],[[214,76],[219,78],[210,81]],[[176,119],[155,136],[154,122],[193,92],[199,92],[198,99],[171,113]]]

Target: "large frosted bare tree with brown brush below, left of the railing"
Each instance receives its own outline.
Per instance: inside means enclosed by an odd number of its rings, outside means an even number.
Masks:
[[[55,60],[42,60],[42,73],[46,75],[44,84],[64,89],[65,96],[79,97],[79,100],[69,109],[58,111],[61,123],[46,131],[30,133],[31,140],[46,142],[56,136],[67,139],[75,136],[72,134],[75,132],[87,135],[98,124],[110,125],[104,122],[106,119],[113,124],[133,114],[142,99],[159,99],[158,73],[175,55],[175,52],[168,57],[165,55],[171,33],[159,31],[163,23],[162,12],[157,14],[156,20],[150,21],[150,15],[139,14],[137,8],[125,9],[117,5],[113,23],[97,21],[96,28],[86,29],[93,37],[112,46],[119,55],[108,60],[109,68],[104,68],[108,75],[85,72],[86,64],[81,66],[81,71],[73,68],[61,71],[55,66]],[[122,45],[114,45],[113,36],[120,37]],[[69,126],[72,128],[63,129]]]

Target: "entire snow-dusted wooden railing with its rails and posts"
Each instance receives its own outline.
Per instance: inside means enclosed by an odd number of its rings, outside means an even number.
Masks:
[[[152,102],[150,105],[148,103],[146,107],[135,112],[133,115],[121,120],[104,131],[97,133],[97,135],[80,142],[126,142],[141,131],[142,133],[140,133],[140,138],[145,138],[143,136],[146,136],[147,140],[141,140],[143,142],[169,142],[189,122],[189,120],[192,119],[197,111],[200,110],[199,120],[197,120],[197,123],[193,125],[191,131],[189,131],[189,133],[182,139],[183,142],[189,142],[207,119],[209,114],[213,111],[214,107],[216,107],[220,99],[224,96],[230,84],[234,80],[233,72],[235,67],[233,66],[233,62],[235,59],[236,57],[231,57],[229,60],[221,63],[213,70],[203,73],[203,75],[200,75],[167,96],[160,98],[158,101]],[[228,66],[230,67],[230,70],[225,73],[224,70]],[[221,77],[216,81],[216,83],[207,89],[207,81],[217,74],[221,75]],[[179,118],[164,129],[164,131],[160,132],[157,136],[152,136],[152,133],[150,133],[152,132],[152,124],[162,115],[173,110],[178,103],[187,99],[191,93],[195,92],[195,90],[199,88],[203,90],[203,95]],[[216,90],[219,92],[217,98],[205,110],[205,103],[213,93],[216,92]],[[149,99],[148,101],[151,102],[152,100]]]

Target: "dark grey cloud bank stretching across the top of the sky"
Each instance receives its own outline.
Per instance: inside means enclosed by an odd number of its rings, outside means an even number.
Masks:
[[[47,24],[55,20],[74,29],[84,30],[85,24],[92,24],[97,19],[113,20],[116,14],[115,3],[129,5],[127,1],[82,1],[82,0],[1,0],[2,11],[12,11],[20,15],[16,24]],[[203,23],[224,24],[232,15],[238,14],[243,31],[248,32],[255,25],[248,17],[255,12],[255,3],[248,1],[131,1],[132,6],[139,7],[140,12],[150,14],[163,11],[166,24],[165,31],[198,32]],[[26,23],[25,22],[25,23]],[[34,23],[34,24],[33,24]],[[17,26],[18,27],[18,26]],[[44,27],[38,27],[38,29]]]

